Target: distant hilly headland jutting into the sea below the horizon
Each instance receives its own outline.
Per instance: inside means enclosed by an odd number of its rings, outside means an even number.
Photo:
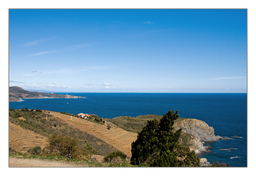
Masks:
[[[73,95],[49,94],[42,92],[34,92],[22,89],[18,86],[9,87],[9,101],[22,101],[23,98],[86,98]]]

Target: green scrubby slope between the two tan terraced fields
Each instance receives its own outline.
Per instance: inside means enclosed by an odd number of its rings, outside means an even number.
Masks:
[[[111,152],[111,146],[98,138],[82,132],[68,125],[65,121],[41,112],[26,112],[21,110],[10,111],[9,121],[20,125],[22,128],[31,130],[37,134],[49,137],[51,134],[70,135],[79,140],[80,146],[95,155],[106,156]],[[23,117],[23,118],[18,118]],[[100,143],[101,145],[98,145]],[[100,151],[100,152],[98,152]]]

